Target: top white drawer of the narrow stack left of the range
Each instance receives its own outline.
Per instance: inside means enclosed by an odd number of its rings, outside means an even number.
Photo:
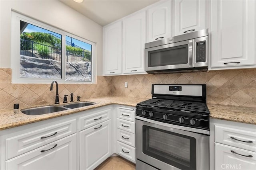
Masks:
[[[135,122],[135,109],[129,107],[118,107],[117,117]]]

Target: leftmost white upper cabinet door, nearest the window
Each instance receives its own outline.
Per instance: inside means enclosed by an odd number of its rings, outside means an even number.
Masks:
[[[104,27],[104,74],[122,74],[122,22]]]

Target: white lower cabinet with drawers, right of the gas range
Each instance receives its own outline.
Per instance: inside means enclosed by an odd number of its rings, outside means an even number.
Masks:
[[[256,170],[256,125],[210,119],[210,133],[211,170]]]

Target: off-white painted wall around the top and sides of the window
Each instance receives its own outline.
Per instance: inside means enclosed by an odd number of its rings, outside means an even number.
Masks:
[[[102,26],[58,0],[0,0],[0,68],[10,68],[11,9],[97,44],[102,75]]]

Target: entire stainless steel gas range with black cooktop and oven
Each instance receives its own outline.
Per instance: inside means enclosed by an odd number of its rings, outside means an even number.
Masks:
[[[152,84],[136,106],[136,170],[209,170],[205,84]]]

